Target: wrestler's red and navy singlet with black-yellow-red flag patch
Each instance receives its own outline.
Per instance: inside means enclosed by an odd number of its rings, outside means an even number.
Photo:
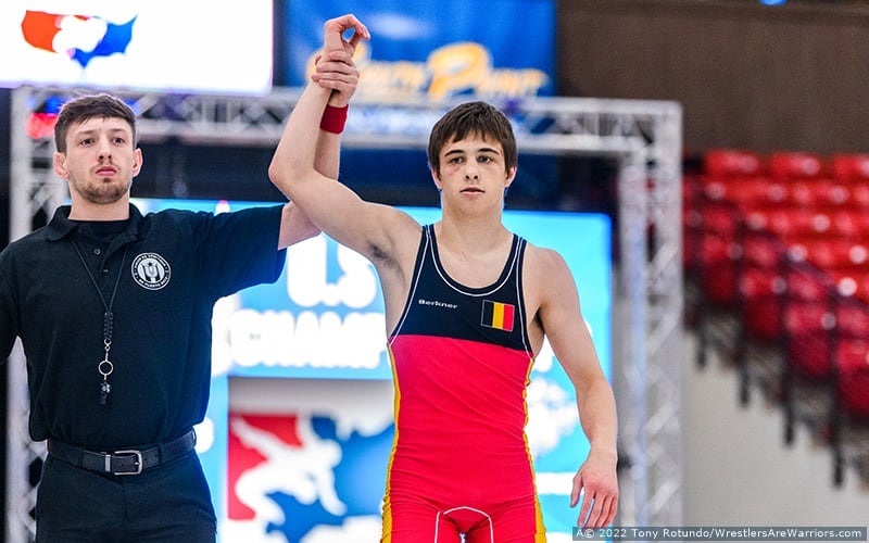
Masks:
[[[389,338],[395,439],[385,542],[544,541],[525,434],[528,341],[514,235],[498,280],[465,287],[423,229],[404,311]]]

